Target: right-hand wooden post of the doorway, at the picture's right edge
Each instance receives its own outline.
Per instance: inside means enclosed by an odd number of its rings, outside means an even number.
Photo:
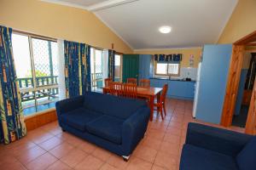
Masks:
[[[256,134],[256,79],[254,80],[253,93],[248,111],[245,133],[253,135]]]

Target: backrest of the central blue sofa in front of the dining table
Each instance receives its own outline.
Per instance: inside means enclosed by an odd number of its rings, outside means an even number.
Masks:
[[[123,120],[145,105],[146,102],[143,100],[119,98],[108,94],[87,93],[84,95],[85,108]]]

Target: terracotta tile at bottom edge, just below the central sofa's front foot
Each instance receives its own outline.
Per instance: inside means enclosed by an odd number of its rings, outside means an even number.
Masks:
[[[131,158],[129,160],[127,170],[150,170],[152,167],[152,163],[148,161],[143,161],[142,159],[139,159],[137,157]]]

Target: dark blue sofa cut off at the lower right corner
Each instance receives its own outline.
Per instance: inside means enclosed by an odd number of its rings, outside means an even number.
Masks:
[[[256,170],[256,136],[189,123],[180,170]]]

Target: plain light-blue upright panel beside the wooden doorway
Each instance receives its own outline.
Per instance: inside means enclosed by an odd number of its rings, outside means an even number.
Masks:
[[[201,62],[196,118],[219,124],[230,68],[232,45],[205,45]]]

